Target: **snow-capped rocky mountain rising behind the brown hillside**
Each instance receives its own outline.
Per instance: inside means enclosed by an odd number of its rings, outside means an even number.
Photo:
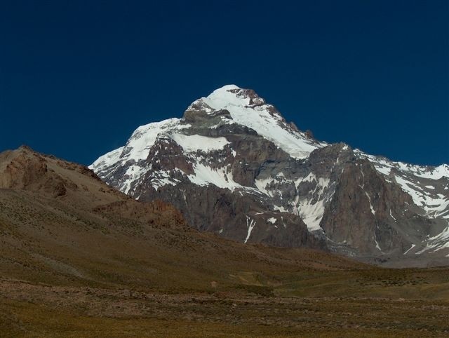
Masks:
[[[319,142],[234,85],[194,101],[182,119],[140,126],[91,168],[140,201],[173,203],[193,227],[244,243],[449,257],[449,165]]]

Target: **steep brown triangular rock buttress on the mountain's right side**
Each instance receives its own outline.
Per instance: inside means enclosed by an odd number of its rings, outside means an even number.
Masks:
[[[359,255],[401,255],[433,222],[407,209],[413,199],[398,185],[389,184],[370,162],[344,168],[321,227],[329,238],[348,245]]]

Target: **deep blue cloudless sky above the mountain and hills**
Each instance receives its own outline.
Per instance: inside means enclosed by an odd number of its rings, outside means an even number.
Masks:
[[[28,144],[90,164],[235,83],[319,140],[449,163],[448,7],[2,0],[0,151]]]

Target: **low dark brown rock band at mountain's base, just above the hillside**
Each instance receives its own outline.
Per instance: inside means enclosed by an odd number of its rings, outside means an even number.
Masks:
[[[174,201],[175,208],[181,210],[187,222],[201,231],[246,243],[326,250],[325,242],[310,234],[300,217],[288,212],[267,212],[266,205],[250,196],[236,196],[217,187],[204,189],[180,184],[161,187],[141,198],[152,201],[154,196]],[[251,224],[253,229],[250,229]]]

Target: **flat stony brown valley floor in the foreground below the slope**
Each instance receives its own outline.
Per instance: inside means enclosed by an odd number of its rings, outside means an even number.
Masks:
[[[142,292],[2,279],[0,332],[1,337],[449,336],[448,299],[288,293],[250,286]]]

